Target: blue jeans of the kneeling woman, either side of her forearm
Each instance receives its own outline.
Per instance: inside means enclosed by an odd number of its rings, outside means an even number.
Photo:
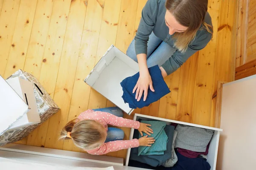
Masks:
[[[128,50],[126,51],[126,55],[128,55],[131,59],[138,62],[137,56],[135,53],[135,44],[134,40],[132,40]],[[176,51],[176,48],[171,47],[166,42],[155,36],[152,32],[148,39],[148,54],[147,54],[147,65],[148,68],[153,67],[154,65],[163,65],[170,57],[172,57],[173,53]]]

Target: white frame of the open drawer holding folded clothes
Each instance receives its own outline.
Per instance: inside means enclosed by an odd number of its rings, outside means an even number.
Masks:
[[[209,146],[208,162],[211,165],[211,170],[216,169],[216,161],[217,161],[217,154],[218,154],[218,143],[219,143],[220,132],[222,131],[222,129],[218,129],[218,128],[215,128],[215,127],[196,125],[196,124],[192,124],[192,123],[180,122],[180,121],[175,121],[175,120],[171,120],[171,119],[163,119],[163,118],[159,118],[159,117],[147,116],[147,115],[136,113],[134,115],[134,120],[139,120],[139,119],[142,119],[142,120],[159,120],[159,121],[166,122],[166,125],[170,125],[171,123],[177,123],[177,124],[181,124],[181,125],[189,125],[189,126],[193,126],[193,127],[201,127],[201,128],[204,128],[204,129],[214,130],[214,133],[213,133],[213,136],[212,136],[212,139],[211,139],[211,142],[210,142],[210,146]],[[133,136],[134,136],[134,129],[131,129],[130,140],[133,139]],[[131,149],[128,149],[128,152],[126,154],[125,166],[128,166],[129,159],[130,159],[130,153],[131,153]]]

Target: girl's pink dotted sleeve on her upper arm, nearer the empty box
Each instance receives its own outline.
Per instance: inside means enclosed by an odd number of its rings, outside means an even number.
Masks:
[[[98,115],[103,119],[108,125],[114,125],[118,127],[130,127],[134,129],[140,128],[140,122],[131,119],[124,119],[122,117],[117,117],[113,114],[106,112],[98,112]]]

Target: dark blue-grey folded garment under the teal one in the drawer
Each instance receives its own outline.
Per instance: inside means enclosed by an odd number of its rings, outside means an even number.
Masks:
[[[153,129],[154,130],[154,129]],[[168,143],[166,147],[166,151],[164,151],[163,155],[140,155],[138,156],[138,147],[131,149],[130,160],[139,161],[141,163],[146,163],[151,165],[152,167],[157,167],[166,162],[166,160],[172,157],[172,139],[174,134],[174,126],[166,125],[164,128],[166,135],[168,136]],[[138,130],[134,130],[134,138],[139,138]]]

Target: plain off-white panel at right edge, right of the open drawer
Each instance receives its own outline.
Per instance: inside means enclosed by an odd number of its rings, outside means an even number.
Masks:
[[[256,75],[223,85],[217,170],[255,170]]]

